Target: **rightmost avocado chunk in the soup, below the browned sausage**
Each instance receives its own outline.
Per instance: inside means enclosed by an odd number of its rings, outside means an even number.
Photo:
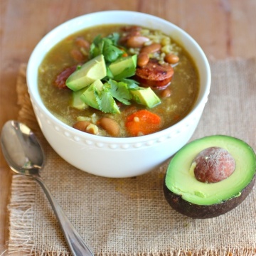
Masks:
[[[145,105],[146,107],[152,108],[161,103],[161,100],[151,87],[141,87],[139,90],[131,90],[131,93],[137,103]]]

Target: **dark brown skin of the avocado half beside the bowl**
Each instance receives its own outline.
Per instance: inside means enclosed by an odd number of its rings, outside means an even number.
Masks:
[[[174,208],[178,213],[186,215],[191,218],[214,218],[228,211],[233,210],[245,200],[245,198],[252,191],[255,185],[256,175],[253,176],[252,181],[241,191],[240,196],[230,198],[228,201],[223,201],[222,203],[216,203],[211,206],[201,206],[193,203],[189,203],[183,200],[181,196],[169,191],[165,183],[166,177],[164,178],[164,197],[169,205]]]

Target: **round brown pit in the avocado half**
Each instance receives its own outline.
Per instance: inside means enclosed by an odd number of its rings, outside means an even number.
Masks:
[[[228,178],[235,171],[235,159],[228,150],[218,146],[203,149],[195,159],[194,174],[198,181],[215,183]]]

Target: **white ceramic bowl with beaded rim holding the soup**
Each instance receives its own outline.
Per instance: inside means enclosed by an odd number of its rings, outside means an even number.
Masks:
[[[193,110],[180,122],[142,137],[110,138],[80,132],[60,122],[43,105],[38,92],[38,67],[56,43],[83,28],[127,23],[164,31],[191,54],[200,75],[200,92]],[[169,21],[133,11],[102,11],[66,21],[50,31],[28,61],[28,92],[38,124],[53,149],[71,165],[97,176],[132,177],[156,168],[176,153],[193,135],[210,92],[210,67],[198,43]]]

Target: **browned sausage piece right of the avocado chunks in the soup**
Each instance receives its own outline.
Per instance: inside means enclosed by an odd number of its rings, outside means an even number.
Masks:
[[[136,78],[144,87],[152,89],[164,89],[174,75],[174,68],[171,65],[161,65],[158,60],[151,59],[144,67],[138,67],[136,70]]]

